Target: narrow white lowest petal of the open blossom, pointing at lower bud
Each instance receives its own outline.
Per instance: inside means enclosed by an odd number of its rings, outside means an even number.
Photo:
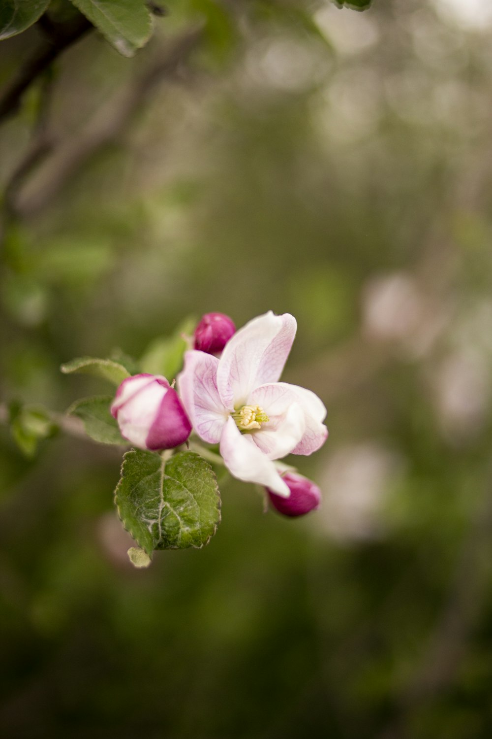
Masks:
[[[246,483],[259,483],[288,498],[291,491],[274,463],[256,446],[251,435],[241,434],[233,418],[224,427],[221,438],[221,455],[229,472]]]

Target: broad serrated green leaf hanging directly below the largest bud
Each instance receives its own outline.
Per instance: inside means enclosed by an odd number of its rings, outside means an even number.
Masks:
[[[139,547],[201,548],[221,521],[221,497],[209,463],[193,452],[167,462],[160,454],[131,449],[123,457],[115,503]]]

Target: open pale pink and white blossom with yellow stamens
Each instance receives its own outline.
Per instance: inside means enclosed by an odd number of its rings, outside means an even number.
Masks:
[[[179,390],[201,439],[220,444],[234,477],[289,497],[274,460],[311,454],[325,441],[326,409],[311,390],[278,382],[296,333],[289,313],[269,311],[249,321],[221,358],[187,352]]]

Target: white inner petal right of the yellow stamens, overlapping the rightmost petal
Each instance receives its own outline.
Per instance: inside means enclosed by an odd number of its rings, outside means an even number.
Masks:
[[[295,392],[285,383],[262,385],[253,390],[249,403],[261,406],[268,422],[252,433],[254,443],[268,459],[277,460],[290,454],[304,435],[305,414]]]

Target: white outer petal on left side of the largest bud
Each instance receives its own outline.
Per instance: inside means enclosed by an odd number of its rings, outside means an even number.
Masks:
[[[125,439],[146,449],[148,432],[159,412],[167,388],[152,381],[131,395],[118,410],[118,426]]]

